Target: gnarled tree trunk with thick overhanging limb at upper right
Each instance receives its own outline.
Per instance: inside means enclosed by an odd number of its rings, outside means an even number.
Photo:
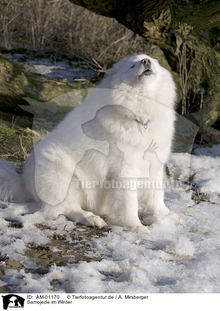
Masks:
[[[218,0],[70,0],[115,18],[162,48],[181,88],[179,112],[197,123],[206,140],[220,119],[220,2]],[[176,77],[177,78],[177,77]],[[193,112],[193,113],[192,113]]]

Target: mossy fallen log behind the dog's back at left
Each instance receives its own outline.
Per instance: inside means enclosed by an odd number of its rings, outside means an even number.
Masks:
[[[39,105],[44,106],[44,102],[49,102],[59,95],[92,86],[88,82],[67,83],[65,80],[47,78],[28,70],[21,64],[9,61],[0,54],[0,111],[25,115],[28,114],[28,109],[25,111],[19,107],[19,105],[28,105],[27,101],[22,99],[23,97],[41,102]]]

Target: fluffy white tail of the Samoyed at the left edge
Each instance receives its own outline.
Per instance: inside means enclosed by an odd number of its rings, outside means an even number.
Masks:
[[[28,200],[22,174],[16,171],[14,163],[5,159],[0,159],[0,200],[14,202]]]

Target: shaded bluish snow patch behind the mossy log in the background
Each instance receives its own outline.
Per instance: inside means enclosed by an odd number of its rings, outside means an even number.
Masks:
[[[15,53],[5,53],[5,57],[15,62],[25,63],[28,68],[37,73],[44,74],[49,78],[67,79],[67,82],[74,82],[74,79],[91,79],[95,73],[89,69],[88,64],[84,61],[76,62],[70,60],[62,60],[55,62],[52,58],[35,58],[31,56]],[[80,66],[79,66],[80,65]]]

